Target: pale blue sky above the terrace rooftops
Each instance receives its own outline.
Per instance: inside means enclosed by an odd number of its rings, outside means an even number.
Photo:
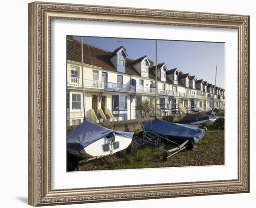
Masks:
[[[81,40],[80,37],[74,37]],[[155,40],[129,38],[98,38],[83,37],[83,42],[95,45],[105,50],[113,51],[123,45],[129,58],[137,59],[147,55],[155,62]],[[224,43],[194,42],[194,41],[157,41],[157,62],[164,62],[168,69],[177,68],[178,71],[189,73],[197,79],[203,79],[224,88]]]

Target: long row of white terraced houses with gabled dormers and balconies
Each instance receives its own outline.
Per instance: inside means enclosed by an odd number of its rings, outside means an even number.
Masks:
[[[155,66],[145,55],[136,60],[128,57],[121,46],[108,51],[83,43],[85,97],[82,97],[81,42],[67,38],[67,125],[86,117],[95,122],[140,118],[135,107],[149,100],[155,103]],[[157,110],[160,114],[209,110],[224,107],[222,88],[177,69],[157,65]]]

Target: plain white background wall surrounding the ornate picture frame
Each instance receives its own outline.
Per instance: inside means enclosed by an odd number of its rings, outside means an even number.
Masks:
[[[27,3],[31,0],[13,0],[1,2],[2,9],[1,26],[5,28],[4,32],[0,33],[2,40],[0,54],[5,60],[2,62],[2,69],[10,69],[10,63],[13,63],[13,55],[15,55],[15,63],[19,63],[18,68],[12,70],[2,70],[2,77],[12,76],[15,85],[10,85],[9,79],[1,79],[2,98],[8,99],[8,102],[0,102],[2,131],[1,139],[2,146],[10,146],[10,142],[15,141],[13,148],[2,148],[0,151],[1,158],[1,204],[2,207],[19,207],[28,208],[27,205]],[[108,6],[127,6],[127,7],[147,7],[152,9],[169,9],[181,11],[198,11],[198,12],[211,12],[211,13],[236,13],[236,14],[249,14],[250,19],[250,37],[251,57],[256,56],[256,14],[255,5],[253,1],[249,0],[216,0],[210,4],[200,1],[120,1],[120,0],[54,0],[54,2],[63,3],[78,3],[78,4],[92,4],[92,5],[108,5]],[[15,15],[12,15],[15,14]],[[7,38],[7,39],[6,39]],[[6,41],[3,41],[6,40]],[[11,42],[15,42],[16,53],[13,54],[13,47],[10,47]],[[19,54],[19,56],[17,56]],[[255,77],[256,63],[254,59],[251,61],[250,76]],[[4,90],[8,86],[8,90]],[[18,86],[18,88],[17,88]],[[256,82],[251,83],[251,89],[256,88]],[[10,93],[13,92],[13,93]],[[255,96],[252,95],[251,102],[254,103]],[[15,95],[15,96],[13,96]],[[17,106],[17,102],[19,105]],[[18,110],[17,110],[18,108]],[[10,113],[8,109],[15,109]],[[251,105],[250,112],[255,115],[256,110]],[[255,116],[251,115],[251,144],[253,147],[256,145],[255,131],[253,126],[256,126]],[[3,122],[4,121],[4,122]],[[14,121],[18,123],[13,130]],[[4,139],[8,138],[8,139]],[[15,154],[13,154],[15,152]],[[93,204],[77,204],[56,206],[56,208],[130,208],[130,207],[159,207],[159,206],[172,206],[172,207],[196,207],[208,208],[216,207],[253,207],[256,195],[256,151],[250,151],[251,158],[251,193],[248,194],[230,194],[230,195],[209,195],[209,196],[194,196],[185,198],[167,198],[167,199],[152,199],[141,201],[124,201],[124,202],[107,202],[107,203],[93,203]],[[252,205],[250,205],[252,204]]]

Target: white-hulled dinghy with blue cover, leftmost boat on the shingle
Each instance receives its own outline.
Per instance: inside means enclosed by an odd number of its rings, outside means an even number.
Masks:
[[[112,155],[126,149],[134,132],[110,130],[85,119],[67,133],[67,151],[78,158]]]

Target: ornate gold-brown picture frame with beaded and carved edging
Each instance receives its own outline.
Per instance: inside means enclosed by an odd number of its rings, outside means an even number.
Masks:
[[[51,188],[51,21],[95,20],[238,30],[237,180]],[[249,16],[33,2],[28,5],[28,203],[33,206],[249,192]]]

